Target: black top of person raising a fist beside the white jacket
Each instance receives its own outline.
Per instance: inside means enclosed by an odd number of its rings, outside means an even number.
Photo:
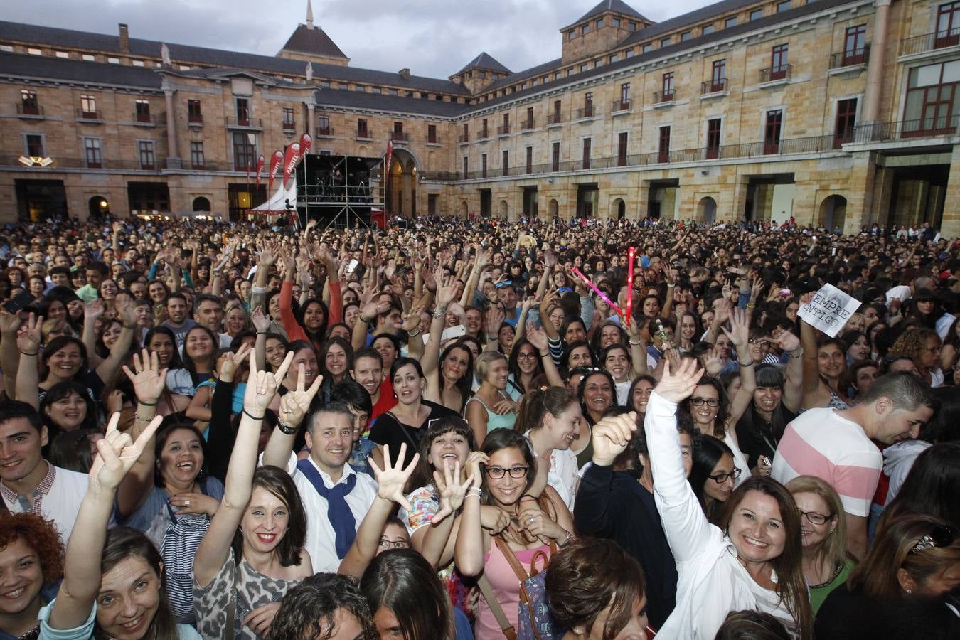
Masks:
[[[577,490],[577,531],[608,538],[643,567],[650,625],[660,628],[676,604],[677,566],[660,524],[653,493],[630,473],[590,464]]]

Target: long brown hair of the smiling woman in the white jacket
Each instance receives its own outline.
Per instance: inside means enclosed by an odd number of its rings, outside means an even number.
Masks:
[[[743,484],[733,489],[726,508],[720,516],[720,529],[724,533],[728,532],[734,511],[750,491],[759,491],[763,495],[770,496],[780,507],[784,541],[783,553],[770,560],[771,566],[777,572],[777,586],[774,591],[797,621],[800,637],[812,637],[813,614],[810,611],[810,600],[807,597],[806,579],[804,579],[802,559],[804,544],[800,535],[800,510],[797,509],[797,503],[794,502],[790,491],[772,478],[748,478]]]

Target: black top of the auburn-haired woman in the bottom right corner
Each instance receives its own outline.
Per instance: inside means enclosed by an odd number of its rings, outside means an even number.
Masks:
[[[881,603],[843,585],[830,592],[817,612],[814,635],[817,640],[956,640],[960,617],[948,604],[960,602],[945,597]]]

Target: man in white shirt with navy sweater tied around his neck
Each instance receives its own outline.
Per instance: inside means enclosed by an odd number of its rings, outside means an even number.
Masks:
[[[300,491],[306,511],[306,550],[317,573],[336,573],[367,511],[376,498],[376,481],[347,463],[353,447],[353,415],[331,402],[308,418],[310,455],[297,460],[296,428],[277,425],[260,457],[263,465],[285,468]]]

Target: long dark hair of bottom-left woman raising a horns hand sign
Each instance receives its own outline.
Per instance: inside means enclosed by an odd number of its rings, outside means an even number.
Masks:
[[[147,563],[160,582],[160,603],[156,607],[156,615],[150,621],[150,626],[144,637],[156,640],[177,640],[180,634],[177,631],[177,620],[174,618],[170,604],[167,602],[166,577],[163,573],[163,558],[156,551],[154,543],[146,535],[131,527],[116,527],[107,532],[107,542],[100,557],[100,575],[103,576],[110,569],[123,560],[135,557]],[[98,624],[93,635],[97,640],[108,640],[108,635]]]

